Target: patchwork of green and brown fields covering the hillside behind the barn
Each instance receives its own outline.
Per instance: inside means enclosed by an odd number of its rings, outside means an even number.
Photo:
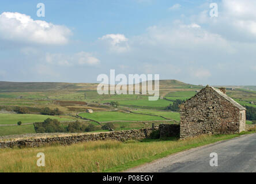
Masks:
[[[116,130],[150,127],[156,124],[179,122],[179,112],[167,110],[175,100],[186,100],[201,90],[203,86],[190,85],[175,80],[160,81],[160,98],[148,101],[148,95],[99,95],[95,83],[12,83],[0,82],[0,124],[21,126],[0,127],[1,135],[35,133],[33,127],[25,123],[42,122],[46,118],[56,118],[61,122],[84,118],[99,121],[102,125],[112,122]],[[256,89],[253,86],[227,86],[227,94],[243,106],[256,107]],[[118,102],[118,106],[111,106]],[[28,109],[28,114],[9,114],[15,107]],[[61,116],[44,116],[39,113],[44,108],[61,110]],[[85,113],[92,109],[93,113]],[[116,111],[110,111],[116,110]],[[2,111],[2,112],[1,112]],[[133,113],[128,113],[128,112]],[[37,114],[32,114],[37,113]],[[150,116],[153,115],[153,116]],[[170,121],[168,121],[170,120]],[[247,120],[247,124],[253,121]],[[88,124],[99,126],[97,122]],[[86,125],[88,125],[86,124]],[[66,124],[65,124],[66,126]]]

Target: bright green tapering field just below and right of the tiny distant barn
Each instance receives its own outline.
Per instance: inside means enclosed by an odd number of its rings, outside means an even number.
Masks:
[[[142,114],[123,113],[123,112],[95,112],[95,113],[80,113],[82,117],[104,122],[104,121],[150,121],[150,120],[164,120],[164,118],[157,116],[148,116]]]

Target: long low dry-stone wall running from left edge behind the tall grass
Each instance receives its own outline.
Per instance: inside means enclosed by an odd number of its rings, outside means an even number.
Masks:
[[[44,138],[32,138],[22,139],[16,141],[2,141],[0,142],[0,148],[8,147],[40,147],[47,144],[61,144],[69,145],[74,143],[80,143],[93,140],[119,140],[125,141],[129,139],[144,139],[150,135],[152,128],[146,129],[132,129],[127,131],[114,131],[104,133],[91,133],[84,135],[72,135],[72,136],[59,136],[59,137],[44,137]]]

